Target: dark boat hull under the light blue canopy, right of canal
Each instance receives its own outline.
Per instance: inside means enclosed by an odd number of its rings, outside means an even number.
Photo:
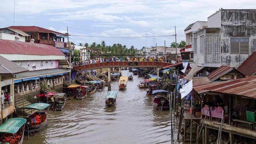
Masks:
[[[155,96],[153,104],[154,104],[154,108],[156,108],[157,110],[170,109],[169,100],[167,100],[164,96]]]

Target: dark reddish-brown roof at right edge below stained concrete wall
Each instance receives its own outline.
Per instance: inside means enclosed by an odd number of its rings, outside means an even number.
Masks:
[[[237,70],[245,76],[252,76],[256,72],[256,52],[254,51]]]

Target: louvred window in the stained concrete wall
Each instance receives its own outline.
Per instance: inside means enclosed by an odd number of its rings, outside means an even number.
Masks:
[[[230,38],[230,54],[249,54],[249,38]]]

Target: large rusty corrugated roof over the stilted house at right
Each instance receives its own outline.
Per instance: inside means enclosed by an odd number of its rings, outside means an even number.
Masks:
[[[195,80],[193,79],[193,88],[199,94],[205,92],[219,92],[256,98],[256,76],[249,76],[247,78],[225,82],[211,82],[204,84],[198,84],[198,82],[194,81]]]

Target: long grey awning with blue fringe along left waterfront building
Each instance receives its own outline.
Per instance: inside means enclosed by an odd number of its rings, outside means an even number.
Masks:
[[[50,75],[54,74],[64,74],[68,73],[70,70],[66,70],[63,68],[54,68],[54,69],[48,69],[48,70],[36,70],[36,71],[30,71],[30,72],[23,72],[20,74],[16,74],[15,80],[23,80],[27,78],[33,78],[32,80],[38,80],[39,78],[49,77]],[[24,81],[24,80],[23,80]]]

